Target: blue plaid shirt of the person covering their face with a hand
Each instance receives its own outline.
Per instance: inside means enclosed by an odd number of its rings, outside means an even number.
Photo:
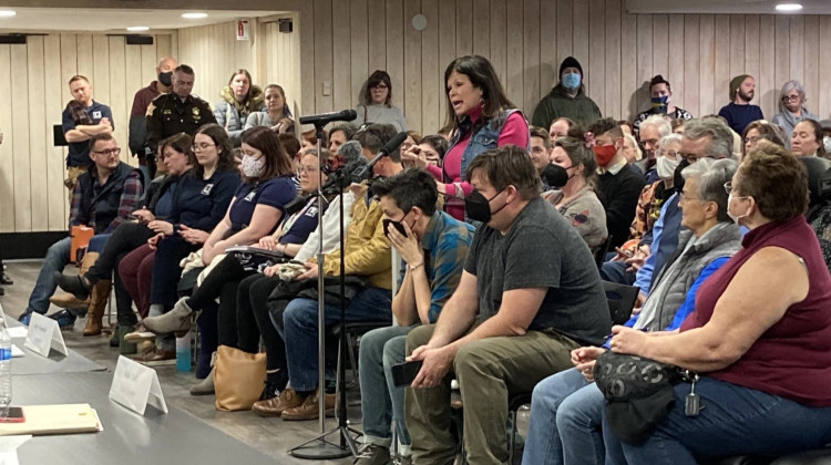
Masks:
[[[424,249],[424,272],[430,282],[428,319],[431,323],[439,319],[439,312],[459,286],[474,231],[472,225],[454,219],[444,211],[433,213],[427,225],[421,247]],[[404,279],[406,265],[401,260],[399,285]]]

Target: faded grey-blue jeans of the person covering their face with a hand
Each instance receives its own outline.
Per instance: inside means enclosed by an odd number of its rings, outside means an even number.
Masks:
[[[390,422],[398,442],[410,445],[404,424],[404,388],[392,382],[392,365],[404,361],[407,334],[416,327],[379,328],[361,337],[358,372],[361,383],[363,442],[390,447]]]

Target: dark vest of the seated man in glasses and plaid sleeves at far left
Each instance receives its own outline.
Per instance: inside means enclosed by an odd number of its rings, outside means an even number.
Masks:
[[[81,217],[85,224],[95,219],[95,234],[103,232],[119,216],[119,204],[121,194],[124,190],[124,182],[131,173],[138,173],[138,180],[143,184],[144,177],[141,172],[124,162],[110,174],[110,177],[99,190],[98,195],[93,192],[95,179],[90,174],[95,169],[95,165],[90,170],[78,177],[78,184],[81,186]]]

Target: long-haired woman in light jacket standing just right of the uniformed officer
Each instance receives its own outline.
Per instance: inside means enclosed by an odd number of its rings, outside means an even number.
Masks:
[[[263,90],[252,84],[252,74],[247,70],[236,70],[228,85],[219,91],[219,96],[222,100],[214,106],[216,124],[225,128],[232,145],[238,147],[248,115],[267,111]]]

